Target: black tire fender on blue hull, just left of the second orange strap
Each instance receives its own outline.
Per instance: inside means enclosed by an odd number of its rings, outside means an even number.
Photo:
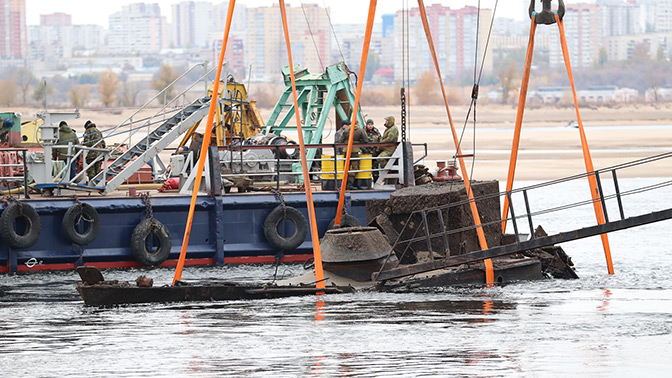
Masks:
[[[285,206],[287,220],[294,223],[294,235],[285,238],[278,232],[278,225],[285,220],[285,211],[278,206],[266,217],[264,221],[264,235],[268,244],[279,251],[291,251],[296,249],[308,236],[308,221],[301,212],[291,206]]]

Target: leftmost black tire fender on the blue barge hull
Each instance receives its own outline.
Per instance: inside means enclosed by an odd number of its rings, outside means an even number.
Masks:
[[[21,215],[23,214],[23,215]],[[14,230],[14,222],[18,218],[24,218],[26,232],[19,235]],[[12,202],[0,215],[0,236],[2,240],[14,249],[26,249],[32,247],[40,237],[42,221],[35,208],[27,203]]]

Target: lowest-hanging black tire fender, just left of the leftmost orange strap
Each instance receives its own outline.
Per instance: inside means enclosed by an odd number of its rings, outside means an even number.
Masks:
[[[147,238],[154,236],[159,241],[155,251],[147,250]],[[140,222],[131,235],[131,253],[133,257],[145,266],[158,266],[168,259],[172,242],[168,228],[154,218],[145,218]]]

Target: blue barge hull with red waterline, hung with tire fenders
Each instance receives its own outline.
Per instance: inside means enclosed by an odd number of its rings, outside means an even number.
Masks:
[[[346,211],[361,223],[366,222],[366,201],[389,198],[391,191],[355,191],[346,194]],[[304,193],[283,193],[284,202],[298,209],[307,219]],[[160,266],[175,266],[182,245],[189,196],[156,195],[150,197],[155,219],[170,233],[172,247]],[[100,216],[100,232],[87,245],[68,240],[62,229],[65,212],[74,199],[25,200],[35,208],[42,224],[37,242],[29,249],[12,249],[0,241],[0,273],[45,270],[72,270],[77,266],[97,268],[141,267],[131,253],[134,228],[147,216],[142,198],[92,198],[80,201],[93,206]],[[314,193],[315,212],[320,236],[335,217],[337,192]],[[222,265],[245,263],[303,262],[312,257],[310,234],[292,251],[280,252],[264,236],[263,224],[279,205],[274,194],[226,194],[199,196],[194,214],[186,265]],[[4,207],[3,207],[4,210]],[[289,225],[289,227],[292,227]],[[291,231],[290,231],[291,232]]]

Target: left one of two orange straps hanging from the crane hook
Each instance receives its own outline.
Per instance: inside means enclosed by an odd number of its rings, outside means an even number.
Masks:
[[[525,55],[525,68],[523,69],[523,81],[520,84],[520,97],[518,98],[518,113],[516,114],[516,127],[513,132],[513,146],[511,146],[511,160],[509,161],[509,176],[506,179],[506,191],[513,189],[513,176],[516,174],[516,162],[518,161],[518,147],[520,145],[520,130],[523,126],[523,112],[525,111],[525,100],[527,99],[527,87],[530,83],[530,70],[532,67],[532,54],[534,51],[534,32],[537,30],[537,24],[532,16],[530,25],[530,38],[527,42],[527,53]],[[509,216],[509,197],[504,197],[504,207],[502,209],[502,234],[506,233],[506,219]]]

